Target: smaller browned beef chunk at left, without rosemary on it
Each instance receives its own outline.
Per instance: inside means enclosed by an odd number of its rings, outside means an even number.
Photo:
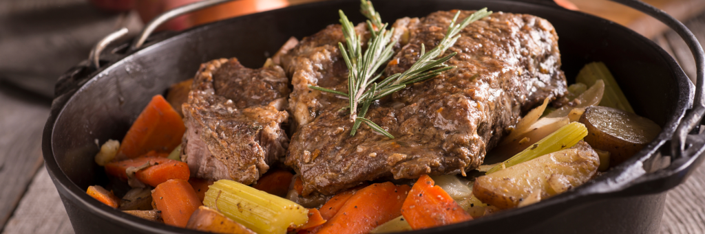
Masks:
[[[286,154],[288,79],[272,65],[250,69],[237,59],[201,65],[188,102],[181,160],[192,176],[250,184]]]

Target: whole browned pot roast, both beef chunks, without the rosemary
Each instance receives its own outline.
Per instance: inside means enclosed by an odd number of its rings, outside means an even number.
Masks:
[[[460,19],[472,12],[462,11]],[[384,73],[407,70],[422,44],[427,51],[434,48],[454,14],[397,20],[396,56]],[[364,25],[356,31],[367,34]],[[561,98],[567,89],[558,36],[547,20],[493,13],[460,34],[443,55],[458,53],[447,62],[455,69],[369,108],[366,117],[395,138],[364,124],[350,136],[353,123],[341,111],[348,100],[309,89],[347,92],[340,25],[284,46],[287,51],[273,59],[283,70],[277,65],[251,70],[234,59],[206,63],[183,105],[188,128],[183,160],[197,177],[248,184],[286,155],[284,163],[300,174],[303,195],[333,195],[378,178],[465,174],[482,164],[522,112],[545,98]],[[290,142],[282,129],[289,115]]]

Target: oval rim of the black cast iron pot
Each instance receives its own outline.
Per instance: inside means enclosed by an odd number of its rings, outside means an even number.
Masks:
[[[477,0],[479,2],[491,2],[491,0]],[[335,4],[340,4],[343,1],[323,1],[323,2],[317,2],[317,3],[312,3],[312,4],[302,4],[298,6],[290,6],[287,8],[281,8],[277,9],[274,11],[266,11],[262,13],[256,13],[252,14],[254,15],[259,15],[259,14],[274,14],[278,11],[298,11],[298,9],[301,8],[315,8],[317,6],[321,5],[335,5]],[[630,160],[627,160],[623,164],[620,164],[618,167],[614,167],[610,169],[609,171],[606,171],[605,174],[620,174],[620,176],[623,178],[620,181],[615,181],[612,178],[607,178],[607,176],[600,176],[599,178],[594,178],[588,183],[585,183],[584,185],[574,188],[572,190],[569,190],[563,194],[556,195],[554,197],[551,197],[550,199],[544,200],[542,202],[538,202],[536,204],[529,205],[527,207],[520,207],[517,209],[511,209],[505,212],[501,212],[498,214],[493,214],[491,216],[486,216],[482,217],[479,219],[475,219],[473,221],[466,221],[462,223],[455,223],[447,226],[441,226],[441,227],[436,227],[436,228],[431,228],[431,229],[426,229],[426,230],[415,230],[410,233],[430,233],[430,232],[442,232],[442,231],[447,231],[447,230],[453,230],[456,228],[462,228],[463,226],[474,226],[477,224],[481,223],[490,223],[493,221],[498,221],[501,219],[508,218],[510,216],[518,216],[520,214],[527,214],[531,212],[536,212],[541,209],[548,209],[548,207],[556,207],[556,206],[563,206],[568,203],[572,202],[580,202],[580,204],[587,204],[587,202],[594,202],[597,200],[605,199],[608,197],[614,197],[614,196],[633,196],[633,195],[641,195],[641,194],[623,194],[620,195],[618,192],[622,190],[627,190],[630,186],[633,186],[632,182],[635,181],[635,179],[639,178],[640,176],[644,175],[644,169],[643,165],[646,160],[649,160],[652,156],[654,156],[656,153],[659,152],[659,149],[663,147],[663,145],[666,144],[667,141],[670,141],[671,136],[673,136],[673,133],[680,124],[681,119],[685,116],[685,112],[688,108],[690,108],[693,104],[692,97],[694,96],[694,86],[692,83],[689,81],[689,79],[686,77],[685,72],[682,71],[682,68],[678,63],[675,62],[673,57],[668,55],[666,51],[663,51],[663,48],[661,46],[658,46],[654,41],[651,41],[649,39],[646,39],[640,34],[637,34],[637,32],[634,32],[627,27],[623,27],[622,25],[617,25],[614,22],[611,22],[609,20],[603,19],[596,17],[594,15],[589,15],[587,13],[582,13],[578,11],[569,11],[563,8],[559,8],[558,6],[548,6],[546,4],[539,4],[536,2],[525,2],[525,1],[510,1],[510,4],[515,4],[517,8],[526,8],[527,6],[532,6],[532,7],[541,7],[541,8],[551,8],[553,11],[560,11],[563,14],[568,14],[572,15],[575,18],[590,18],[591,20],[596,20],[597,22],[600,22],[601,24],[606,24],[606,25],[612,25],[615,26],[616,29],[622,30],[626,32],[627,34],[630,34],[632,37],[638,38],[639,40],[635,41],[635,43],[642,43],[642,44],[648,44],[649,46],[655,48],[658,53],[661,55],[661,58],[668,63],[670,67],[672,67],[673,71],[675,74],[673,74],[673,77],[677,79],[677,84],[678,84],[678,96],[680,97],[689,97],[687,100],[678,100],[678,103],[675,103],[677,105],[677,113],[675,115],[672,115],[668,117],[666,120],[666,124],[663,126],[663,131],[661,131],[660,134],[647,145],[644,147],[641,151],[637,153],[637,155],[632,156]],[[44,155],[44,161],[45,167],[47,167],[47,170],[49,171],[49,174],[54,181],[54,185],[57,187],[57,190],[61,193],[61,195],[66,196],[66,199],[75,201],[77,205],[84,210],[87,210],[91,212],[94,215],[97,216],[103,216],[106,219],[108,219],[111,223],[116,223],[117,225],[120,226],[130,226],[133,228],[137,228],[140,230],[147,230],[153,233],[201,233],[195,230],[188,230],[185,228],[176,228],[173,226],[168,226],[163,223],[154,223],[152,221],[146,221],[144,219],[137,218],[135,216],[131,216],[129,214],[125,214],[117,209],[113,209],[111,207],[106,206],[105,204],[102,204],[101,202],[98,202],[97,200],[92,199],[90,196],[85,194],[85,191],[80,189],[71,179],[66,176],[66,174],[63,173],[61,168],[59,167],[58,162],[56,162],[56,158],[54,157],[54,149],[52,147],[52,142],[53,142],[53,135],[54,135],[54,124],[56,124],[57,119],[61,117],[63,114],[64,107],[66,106],[67,103],[71,102],[75,96],[77,96],[78,93],[80,93],[83,89],[85,89],[91,82],[94,82],[96,79],[99,79],[101,77],[101,74],[104,74],[106,72],[109,72],[111,69],[114,69],[114,67],[117,67],[118,65],[121,65],[124,63],[125,60],[127,60],[130,57],[133,56],[139,56],[142,53],[148,53],[152,48],[156,48],[157,46],[161,44],[166,44],[169,41],[172,40],[178,40],[181,39],[182,37],[185,37],[185,35],[190,34],[190,33],[198,33],[200,30],[208,30],[209,25],[219,25],[219,24],[227,24],[231,22],[238,22],[239,20],[247,20],[247,18],[252,17],[251,15],[245,15],[241,16],[238,18],[231,18],[228,20],[221,20],[218,22],[213,22],[207,25],[200,25],[197,27],[193,27],[189,30],[184,30],[183,32],[179,32],[176,35],[173,35],[172,37],[168,37],[167,39],[161,40],[161,41],[154,41],[150,42],[147,44],[144,48],[134,51],[133,53],[128,54],[127,56],[124,56],[123,58],[117,60],[115,63],[111,63],[108,66],[103,67],[100,70],[97,70],[96,72],[92,72],[92,74],[88,75],[87,77],[90,77],[90,79],[87,80],[84,84],[80,85],[80,88],[70,92],[70,93],[65,93],[61,96],[57,96],[56,99],[54,100],[54,103],[52,105],[52,110],[51,110],[51,115],[49,116],[49,119],[47,120],[47,124],[44,126],[44,133],[42,134],[42,152]],[[699,86],[705,86],[705,84],[700,84]],[[662,192],[661,192],[662,193]],[[556,213],[555,215],[558,215],[560,213]],[[544,217],[546,218],[546,217]],[[528,227],[527,227],[528,228]]]

